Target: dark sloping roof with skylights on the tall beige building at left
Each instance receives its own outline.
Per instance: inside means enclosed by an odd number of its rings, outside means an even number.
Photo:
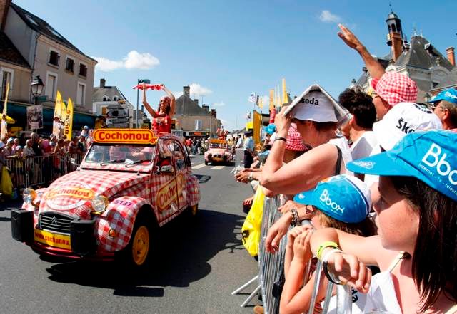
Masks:
[[[76,46],[74,46],[72,43],[66,40],[64,36],[61,36],[61,34],[58,31],[56,31],[51,25],[49,25],[46,21],[40,19],[38,16],[31,14],[29,11],[22,9],[20,6],[14,3],[11,3],[11,8],[13,8],[14,11],[16,11],[16,13],[19,14],[19,16],[21,16],[21,19],[24,20],[27,26],[29,26],[34,31],[37,31],[41,35],[44,35],[52,39],[53,41],[56,41],[57,43],[60,43],[61,45],[66,46],[67,48],[70,48],[71,50],[81,53],[81,55],[86,56],[87,58],[91,58],[84,54],[82,51],[80,51],[78,48],[76,48]]]

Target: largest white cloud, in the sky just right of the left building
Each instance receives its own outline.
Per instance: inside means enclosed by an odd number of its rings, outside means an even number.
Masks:
[[[98,61],[95,69],[101,72],[111,72],[119,68],[126,68],[128,70],[149,70],[150,68],[154,68],[160,64],[159,59],[152,56],[151,53],[139,53],[135,50],[127,53],[127,56],[124,57],[122,61],[109,60],[104,57],[92,58]]]

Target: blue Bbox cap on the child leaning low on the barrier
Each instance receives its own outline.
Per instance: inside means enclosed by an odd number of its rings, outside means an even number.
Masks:
[[[370,189],[347,174],[325,179],[315,189],[296,194],[293,200],[316,206],[333,219],[349,224],[363,221],[371,209]]]

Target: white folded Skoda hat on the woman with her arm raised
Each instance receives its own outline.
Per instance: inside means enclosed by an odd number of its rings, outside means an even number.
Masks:
[[[298,120],[338,122],[338,125],[349,120],[348,110],[317,84],[306,88],[300,97],[295,98],[284,111],[284,115],[289,112]]]

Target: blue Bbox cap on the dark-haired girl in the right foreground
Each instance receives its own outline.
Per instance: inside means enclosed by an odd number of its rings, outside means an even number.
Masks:
[[[391,150],[348,163],[349,170],[380,176],[415,177],[457,201],[457,133],[413,132]]]

